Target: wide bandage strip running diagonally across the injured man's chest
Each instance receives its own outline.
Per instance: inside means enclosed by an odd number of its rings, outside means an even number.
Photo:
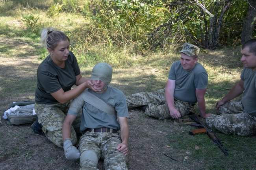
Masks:
[[[98,98],[94,94],[91,94],[88,92],[88,90],[85,92],[85,95],[83,96],[84,101],[89,103],[90,105],[93,105],[97,109],[102,110],[103,112],[106,112],[108,114],[111,114],[113,116],[117,116],[117,112],[115,111],[115,108],[108,105],[105,101]]]

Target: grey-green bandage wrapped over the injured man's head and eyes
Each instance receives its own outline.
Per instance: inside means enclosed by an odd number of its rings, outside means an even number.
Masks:
[[[91,72],[91,80],[103,81],[109,85],[112,79],[112,67],[108,63],[97,63]]]

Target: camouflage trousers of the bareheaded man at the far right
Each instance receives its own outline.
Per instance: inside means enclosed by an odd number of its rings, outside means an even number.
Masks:
[[[241,101],[229,101],[219,107],[220,115],[212,114],[206,123],[224,134],[252,136],[256,134],[256,118],[243,110]]]

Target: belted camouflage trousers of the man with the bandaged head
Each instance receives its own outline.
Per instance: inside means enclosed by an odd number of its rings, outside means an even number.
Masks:
[[[118,133],[86,132],[80,138],[78,150],[81,155],[85,151],[96,153],[98,160],[104,160],[105,170],[127,170],[126,157],[116,149],[119,143]],[[80,170],[97,170],[97,167],[91,160],[80,157]]]

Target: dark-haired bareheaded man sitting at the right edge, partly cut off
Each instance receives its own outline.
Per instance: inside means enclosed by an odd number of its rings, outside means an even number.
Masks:
[[[251,136],[256,134],[256,39],[242,45],[244,69],[241,79],[217,102],[216,108],[221,115],[212,114],[206,123],[224,134]],[[241,101],[233,101],[243,94]]]

